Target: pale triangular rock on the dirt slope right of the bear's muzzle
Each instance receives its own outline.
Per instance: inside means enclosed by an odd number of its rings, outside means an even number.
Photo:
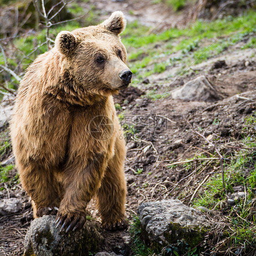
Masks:
[[[185,101],[205,102],[215,102],[222,99],[205,76],[197,77],[185,83],[183,87],[172,92],[172,97]]]

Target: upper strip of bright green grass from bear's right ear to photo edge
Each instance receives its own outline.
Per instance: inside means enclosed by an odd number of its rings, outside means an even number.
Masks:
[[[138,25],[138,22],[128,24],[126,31],[122,34],[123,42],[126,46],[133,46],[139,48],[141,46],[148,46],[160,41],[169,41],[180,36],[187,38],[196,37],[196,39],[215,38],[228,36],[232,32],[251,32],[255,31],[256,15],[254,11],[248,12],[241,17],[235,17],[224,20],[215,20],[212,22],[196,21],[194,25],[185,29],[172,28],[163,33],[150,33],[149,29]],[[136,29],[135,35],[132,31]],[[139,34],[139,35],[138,35]],[[191,39],[193,40],[193,39]]]

